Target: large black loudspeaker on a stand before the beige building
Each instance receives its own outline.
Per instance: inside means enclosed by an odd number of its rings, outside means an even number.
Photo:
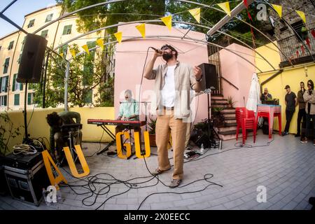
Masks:
[[[19,83],[39,83],[41,81],[46,46],[47,40],[43,36],[27,34],[16,79]]]

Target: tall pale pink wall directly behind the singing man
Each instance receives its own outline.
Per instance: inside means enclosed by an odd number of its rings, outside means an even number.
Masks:
[[[167,27],[160,25],[146,24],[146,38],[139,38],[133,41],[124,41],[130,37],[140,37],[141,34],[134,25],[122,25],[118,31],[123,32],[123,42],[116,45],[116,68],[115,68],[115,115],[118,116],[119,102],[124,99],[124,92],[127,89],[132,90],[134,99],[139,100],[139,89],[141,83],[142,70],[146,59],[146,52],[149,46],[160,48],[164,44],[173,45],[179,52],[179,61],[192,66],[208,63],[207,45],[204,43],[195,43],[193,41],[182,41],[179,39],[163,38],[162,36],[180,36],[186,34],[185,29],[174,29],[169,31]],[[160,36],[159,38],[149,38],[149,36]],[[195,31],[189,31],[186,35],[190,38],[204,40],[204,34]],[[148,53],[148,60],[151,59],[153,50]],[[162,59],[158,58],[155,66],[164,64]],[[151,102],[153,96],[154,80],[144,78],[141,85],[141,101]],[[199,97],[199,106],[195,123],[207,118],[207,94]],[[149,106],[150,107],[150,106]],[[145,107],[141,109],[141,120],[144,119]]]

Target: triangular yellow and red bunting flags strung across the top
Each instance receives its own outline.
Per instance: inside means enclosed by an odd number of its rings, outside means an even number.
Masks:
[[[244,5],[246,6],[246,11],[247,11],[247,15],[248,18],[251,22],[253,22],[253,18],[251,17],[251,14],[248,12],[248,2],[247,0],[243,0]],[[231,10],[230,10],[230,2],[226,1],[223,3],[216,3],[216,5],[218,5],[218,7],[220,7],[222,10],[224,10],[224,12],[231,16]],[[279,5],[275,5],[275,4],[271,4],[272,8],[274,8],[274,10],[276,10],[276,13],[278,13],[279,17],[282,18],[282,6]],[[201,8],[193,8],[188,10],[188,12],[193,16],[193,18],[195,18],[195,20],[200,23],[200,15],[201,15]],[[300,18],[302,18],[302,21],[304,23],[306,23],[306,17],[305,17],[305,13],[300,11],[300,10],[295,10],[295,12],[297,13],[297,15],[300,16]],[[172,15],[167,15],[165,17],[160,18],[160,20],[162,20],[162,22],[165,24],[165,26],[169,29],[169,31],[172,31]],[[139,33],[141,34],[142,38],[146,38],[146,24],[142,23],[140,25],[135,26],[136,29],[139,31]],[[253,45],[255,46],[255,36],[253,33],[253,28],[251,27],[251,34],[252,34],[252,39],[253,39]],[[312,29],[311,30],[311,35],[313,36],[313,38],[315,38],[315,30]],[[123,41],[123,32],[122,31],[118,31],[115,34],[113,34],[113,36],[115,36],[116,41],[118,41],[118,43],[121,43]],[[97,45],[99,45],[99,47],[104,50],[104,39],[103,38],[99,38],[97,39],[97,41],[95,41],[97,43]],[[309,46],[309,48],[311,48],[310,45],[310,41],[309,38],[306,38],[306,44]],[[87,54],[90,55],[90,49],[88,48],[88,46],[85,44],[83,46],[81,46],[81,48],[83,48],[83,50],[85,50],[85,52],[87,52]],[[304,47],[302,48],[301,46],[301,50],[302,52],[304,52]],[[70,49],[69,50],[71,55],[73,57],[76,57],[76,50],[74,49]],[[296,52],[296,54],[300,54],[300,52]],[[59,53],[60,56],[64,57],[64,52]]]

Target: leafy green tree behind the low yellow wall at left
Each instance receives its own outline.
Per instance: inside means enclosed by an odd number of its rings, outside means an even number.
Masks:
[[[76,44],[71,45],[70,48],[79,52]],[[109,49],[110,47],[104,48],[104,51],[101,48],[92,50],[90,55],[79,55],[71,60],[68,80],[69,106],[113,106],[113,80],[106,76],[104,66],[106,60],[103,59],[105,51]],[[65,71],[64,59],[51,55],[45,83],[45,107],[64,104]],[[36,90],[34,101],[38,106],[43,106],[43,91],[41,91],[43,86],[31,87]],[[107,94],[103,99],[102,90]],[[92,101],[92,92],[94,92],[94,101]]]

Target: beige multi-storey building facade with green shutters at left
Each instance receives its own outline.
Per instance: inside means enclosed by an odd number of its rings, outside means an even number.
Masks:
[[[37,10],[33,13],[25,15],[25,22],[22,26],[28,33],[34,33],[37,29],[43,27],[48,22],[56,20],[62,15],[61,6],[51,6]],[[48,41],[49,48],[56,48],[66,41],[79,36],[77,31],[75,16],[67,17],[52,23],[38,31],[36,34],[45,37]],[[0,38],[0,111],[22,110],[25,104],[25,84],[16,82],[18,69],[20,64],[20,55],[24,45],[26,34],[22,31],[15,31],[11,34]],[[89,34],[71,41],[69,45],[76,43],[79,48],[82,45],[92,43],[97,38],[104,36],[104,31],[99,34]],[[71,58],[71,54],[67,49],[68,45],[64,45],[62,51],[66,53],[66,59]],[[80,50],[83,51],[81,48]],[[60,52],[56,50],[56,52]],[[93,94],[90,94],[91,98]],[[27,90],[27,107],[33,109],[34,106],[34,90],[31,87]],[[92,102],[93,99],[90,99]]]

